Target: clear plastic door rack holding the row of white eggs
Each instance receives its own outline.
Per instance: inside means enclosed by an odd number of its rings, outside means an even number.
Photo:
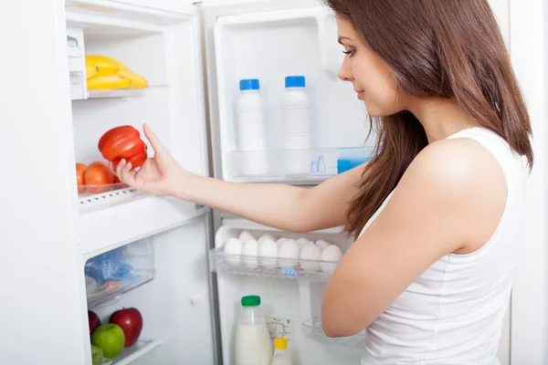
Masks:
[[[327,282],[338,265],[334,261],[228,255],[222,247],[209,252],[210,269],[216,273]],[[322,270],[321,267],[326,268]]]

